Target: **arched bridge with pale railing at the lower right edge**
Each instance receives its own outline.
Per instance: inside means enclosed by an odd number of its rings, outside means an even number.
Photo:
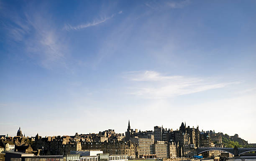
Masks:
[[[225,151],[233,154],[234,156],[239,156],[242,153],[247,153],[249,151],[256,151],[256,148],[215,148],[215,147],[200,147],[197,148],[197,154],[206,152],[206,151]]]

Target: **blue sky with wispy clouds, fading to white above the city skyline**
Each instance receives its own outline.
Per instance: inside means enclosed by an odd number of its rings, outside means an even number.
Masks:
[[[0,0],[0,135],[182,121],[256,143],[255,0]]]

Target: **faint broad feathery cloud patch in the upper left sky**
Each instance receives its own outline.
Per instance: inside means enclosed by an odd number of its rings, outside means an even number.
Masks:
[[[67,44],[54,25],[42,15],[13,15],[5,23],[8,39],[22,44],[27,55],[44,68],[65,64]]]

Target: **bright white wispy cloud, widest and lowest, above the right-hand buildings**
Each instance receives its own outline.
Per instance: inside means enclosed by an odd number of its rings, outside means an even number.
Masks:
[[[134,82],[129,94],[143,98],[169,98],[211,89],[224,88],[239,82],[218,83],[208,78],[163,75],[156,71],[128,72],[124,78]]]

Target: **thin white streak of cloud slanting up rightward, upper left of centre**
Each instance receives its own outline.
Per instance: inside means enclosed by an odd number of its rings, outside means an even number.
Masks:
[[[119,11],[118,14],[121,14],[123,13],[123,11]],[[70,24],[65,24],[64,25],[64,30],[67,30],[67,31],[70,31],[70,30],[81,30],[83,28],[88,28],[88,27],[91,27],[91,26],[96,26],[96,25],[99,25],[101,23],[105,23],[107,20],[113,18],[115,16],[115,14],[111,15],[110,17],[101,17],[100,19],[97,19],[97,20],[94,20],[93,22],[91,23],[84,23],[82,25],[77,25],[77,26],[72,26]]]

